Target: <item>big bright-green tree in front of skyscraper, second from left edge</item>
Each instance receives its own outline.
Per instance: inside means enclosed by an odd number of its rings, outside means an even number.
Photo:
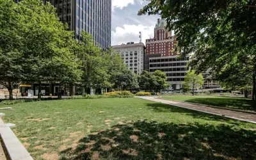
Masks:
[[[41,97],[42,81],[70,83],[79,79],[79,63],[68,44],[72,32],[67,30],[50,3],[38,0],[23,0],[18,4],[22,21],[23,48],[26,52],[24,70],[28,82],[38,82],[38,98]]]

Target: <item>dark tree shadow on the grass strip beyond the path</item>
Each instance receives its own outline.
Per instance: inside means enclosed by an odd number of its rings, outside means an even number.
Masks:
[[[185,102],[219,106],[223,108],[243,109],[256,111],[256,100],[239,99],[239,98],[196,98],[185,100]]]

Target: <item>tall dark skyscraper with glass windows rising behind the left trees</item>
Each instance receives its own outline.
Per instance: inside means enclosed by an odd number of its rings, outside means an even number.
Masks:
[[[78,41],[84,30],[98,47],[107,49],[111,45],[111,0],[51,0],[51,4]]]

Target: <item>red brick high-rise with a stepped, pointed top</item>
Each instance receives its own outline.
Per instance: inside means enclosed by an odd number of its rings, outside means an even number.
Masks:
[[[146,40],[146,54],[161,54],[161,56],[174,56],[177,53],[175,49],[175,37],[172,31],[166,29],[165,20],[157,19],[154,29],[154,38]]]

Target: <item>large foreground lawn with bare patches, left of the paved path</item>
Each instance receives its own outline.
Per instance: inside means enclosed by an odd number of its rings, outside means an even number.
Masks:
[[[15,104],[4,122],[34,159],[256,159],[256,125],[143,99]]]

